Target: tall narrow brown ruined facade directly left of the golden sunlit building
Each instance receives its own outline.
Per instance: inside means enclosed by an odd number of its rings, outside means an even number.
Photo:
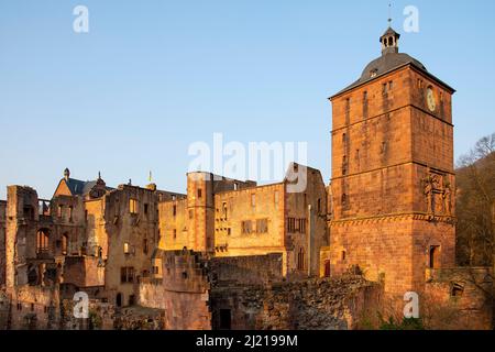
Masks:
[[[158,241],[158,195],[154,189],[121,185],[102,201],[108,239],[106,292],[117,306],[132,306],[139,280],[151,276],[151,256]]]

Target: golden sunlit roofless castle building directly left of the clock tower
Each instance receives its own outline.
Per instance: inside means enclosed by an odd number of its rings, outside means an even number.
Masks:
[[[286,182],[257,187],[188,174],[187,198],[158,204],[160,249],[187,248],[221,257],[278,252],[286,275],[318,275],[319,249],[328,245],[327,190],[317,169],[304,168],[307,187],[299,193],[288,193]]]

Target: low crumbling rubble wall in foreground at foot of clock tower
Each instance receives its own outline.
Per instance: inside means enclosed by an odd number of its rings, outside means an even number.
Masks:
[[[355,329],[380,305],[381,287],[361,277],[211,289],[212,327],[220,330]]]

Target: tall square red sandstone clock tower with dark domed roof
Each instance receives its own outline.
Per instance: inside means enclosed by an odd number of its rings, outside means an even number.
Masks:
[[[454,265],[454,90],[399,53],[382,55],[332,102],[330,271],[359,266],[385,292],[422,292],[426,271]]]

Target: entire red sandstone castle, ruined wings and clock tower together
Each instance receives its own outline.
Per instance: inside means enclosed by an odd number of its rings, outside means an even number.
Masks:
[[[288,173],[304,169],[300,193],[287,191],[292,178],[257,186],[201,172],[187,175],[184,195],[155,184],[112,188],[101,175],[81,182],[69,169],[52,199],[9,186],[0,201],[8,328],[61,324],[61,307],[77,292],[100,310],[154,309],[170,329],[352,328],[361,311],[353,309],[378,304],[382,294],[404,304],[407,292],[435,292],[443,300],[465,293],[462,305],[481,302],[454,270],[454,89],[399,53],[392,28],[380,43],[382,55],[330,98],[328,187],[319,170],[298,164]],[[349,307],[328,308],[349,300],[332,279],[350,271],[367,282],[339,284],[358,287],[353,317]],[[487,273],[480,268],[476,277],[487,284]],[[300,299],[336,295],[323,299],[319,326],[284,296],[301,282],[315,290]],[[273,283],[285,288],[274,294],[266,288]],[[263,298],[249,306],[245,287],[257,287]],[[307,306],[321,305],[311,297]],[[278,318],[263,308],[272,300]]]

